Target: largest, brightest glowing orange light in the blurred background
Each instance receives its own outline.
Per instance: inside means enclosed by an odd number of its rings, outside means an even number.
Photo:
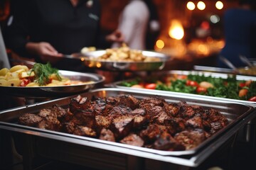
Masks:
[[[184,36],[184,29],[181,22],[178,20],[171,21],[171,27],[169,28],[169,36],[176,40],[181,40]]]

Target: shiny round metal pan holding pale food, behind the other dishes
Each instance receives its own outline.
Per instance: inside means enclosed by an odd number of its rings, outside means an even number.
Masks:
[[[159,57],[159,62],[109,62],[109,61],[98,61],[97,57],[105,54],[105,50],[97,50],[94,52],[85,52],[83,57],[73,57],[84,62],[85,66],[104,69],[109,71],[152,71],[161,70],[164,68],[165,62],[170,60],[171,57],[164,55],[159,52],[142,51],[142,54],[147,57]],[[68,56],[70,58],[70,56]]]

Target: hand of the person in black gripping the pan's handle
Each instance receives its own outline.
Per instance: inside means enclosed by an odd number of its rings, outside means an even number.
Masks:
[[[60,57],[63,57],[63,54],[55,50],[48,42],[28,42],[26,50],[31,54],[40,56],[43,62],[55,63],[60,60]]]

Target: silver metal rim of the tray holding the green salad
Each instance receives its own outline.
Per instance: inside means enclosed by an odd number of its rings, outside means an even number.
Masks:
[[[197,75],[204,75],[206,77],[216,77],[216,78],[223,78],[227,79],[228,74],[226,73],[217,73],[217,72],[201,72],[201,71],[183,71],[183,70],[171,70],[168,72],[159,72],[159,73],[152,73],[151,77],[163,77],[163,75],[171,75],[171,74],[178,74],[178,75],[188,75],[188,74],[197,74]],[[250,77],[250,76],[243,76],[243,75],[236,75],[237,80],[252,80],[256,81],[256,77]],[[130,79],[132,80],[132,79]],[[124,81],[129,81],[129,80],[124,80]],[[191,97],[200,97],[200,98],[208,98],[208,99],[218,99],[222,101],[233,101],[233,102],[242,102],[242,103],[247,103],[252,106],[256,106],[255,101],[242,101],[238,99],[232,99],[232,98],[220,98],[220,97],[214,97],[214,96],[206,96],[206,95],[200,95],[200,94],[186,94],[186,93],[181,93],[181,92],[174,92],[174,91],[161,91],[161,90],[151,90],[151,89],[137,89],[137,88],[131,88],[127,86],[119,86],[119,84],[122,81],[117,81],[112,84],[105,84],[107,87],[115,87],[119,89],[134,89],[134,90],[139,90],[139,91],[156,91],[157,94],[174,94],[174,95],[185,95],[185,96],[191,96]]]

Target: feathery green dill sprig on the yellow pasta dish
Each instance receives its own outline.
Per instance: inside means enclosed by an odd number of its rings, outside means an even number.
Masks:
[[[51,67],[50,63],[41,64],[36,63],[33,65],[31,72],[35,73],[35,82],[39,84],[39,86],[44,86],[50,83],[50,76],[55,74],[59,81],[61,81],[60,74],[58,73],[58,69]]]

